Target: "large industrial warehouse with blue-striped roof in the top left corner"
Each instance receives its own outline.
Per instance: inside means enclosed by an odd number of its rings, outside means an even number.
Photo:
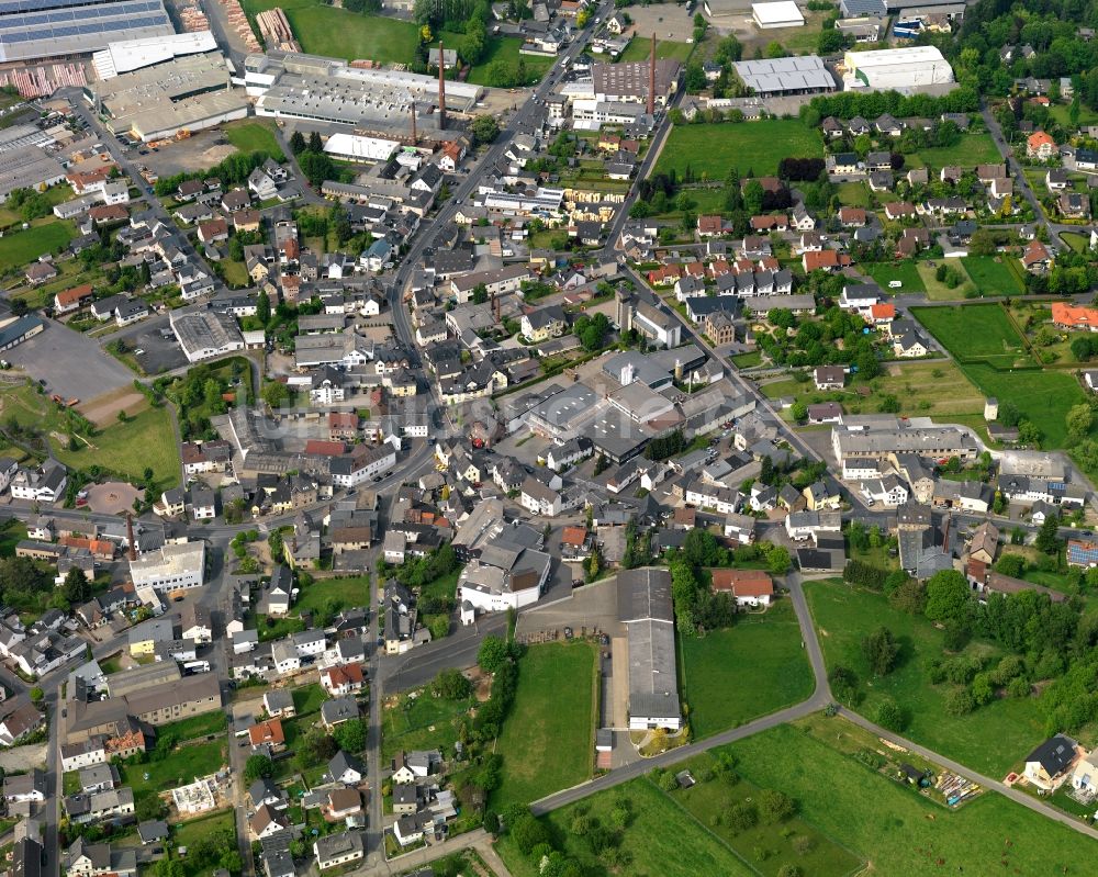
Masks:
[[[0,2],[0,63],[80,55],[116,40],[173,33],[160,0]]]

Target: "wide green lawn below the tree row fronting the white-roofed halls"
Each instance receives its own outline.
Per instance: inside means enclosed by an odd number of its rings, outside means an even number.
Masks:
[[[789,119],[675,125],[656,170],[682,176],[688,166],[697,176],[722,180],[736,168],[741,177],[768,177],[777,173],[777,162],[786,156],[822,158],[820,133]]]

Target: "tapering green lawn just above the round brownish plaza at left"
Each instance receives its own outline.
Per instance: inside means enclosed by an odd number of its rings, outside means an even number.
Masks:
[[[179,447],[171,429],[171,414],[166,407],[145,407],[126,423],[114,423],[82,442],[77,451],[55,447],[57,459],[66,465],[88,469],[101,465],[112,472],[142,477],[152,466],[157,486],[167,490],[179,482]]]

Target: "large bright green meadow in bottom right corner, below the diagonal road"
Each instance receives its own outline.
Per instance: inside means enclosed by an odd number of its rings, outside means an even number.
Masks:
[[[842,734],[845,723],[832,722],[825,740]],[[873,874],[1052,877],[1085,874],[1078,863],[1093,856],[1094,841],[1007,798],[985,794],[945,810],[791,726],[730,750],[743,777],[793,796],[802,819],[871,862]]]

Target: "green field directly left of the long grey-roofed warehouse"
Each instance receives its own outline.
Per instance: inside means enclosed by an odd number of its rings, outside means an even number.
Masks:
[[[595,646],[531,646],[518,665],[518,690],[495,751],[503,782],[492,807],[526,803],[591,776],[595,752]]]

